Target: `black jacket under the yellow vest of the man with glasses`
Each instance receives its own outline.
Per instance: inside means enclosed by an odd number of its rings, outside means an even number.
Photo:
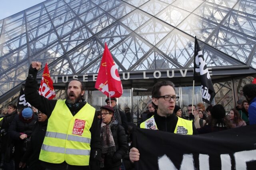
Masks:
[[[168,117],[162,117],[162,116],[159,116],[156,113],[156,111],[154,114],[154,119],[156,122],[156,126],[159,130],[172,132],[172,133],[174,132],[178,122],[178,117],[175,114],[172,114]],[[194,126],[194,123],[192,125],[193,125],[193,134],[198,134],[196,127]]]

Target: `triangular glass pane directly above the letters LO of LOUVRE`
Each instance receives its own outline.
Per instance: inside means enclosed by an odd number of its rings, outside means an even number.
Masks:
[[[156,69],[173,69],[177,68],[174,63],[164,57],[158,51],[151,51],[148,55],[143,57],[138,66],[134,68],[134,71],[140,70],[156,70]]]

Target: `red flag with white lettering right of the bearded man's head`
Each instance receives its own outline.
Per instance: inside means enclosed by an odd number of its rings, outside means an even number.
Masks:
[[[110,97],[120,97],[123,94],[122,82],[106,43],[95,88]]]

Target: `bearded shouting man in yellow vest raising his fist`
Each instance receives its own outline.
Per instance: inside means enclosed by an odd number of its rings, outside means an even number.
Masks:
[[[25,84],[25,97],[45,113],[47,130],[39,160],[47,170],[99,170],[100,127],[94,107],[83,99],[84,86],[68,83],[66,100],[48,100],[39,95],[36,75],[40,62],[32,62]]]

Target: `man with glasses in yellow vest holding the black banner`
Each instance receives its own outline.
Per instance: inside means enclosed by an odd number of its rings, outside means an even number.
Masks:
[[[171,81],[161,81],[156,83],[152,89],[152,104],[154,105],[154,115],[142,122],[140,128],[152,130],[162,130],[177,134],[197,134],[192,121],[182,119],[173,114],[176,101],[174,84]],[[132,162],[140,159],[140,152],[137,148],[131,148],[129,153]]]

